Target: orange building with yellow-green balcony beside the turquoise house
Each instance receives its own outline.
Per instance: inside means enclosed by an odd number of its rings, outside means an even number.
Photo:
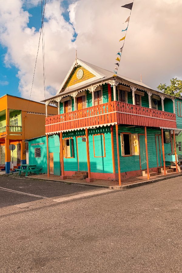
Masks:
[[[48,106],[47,114],[56,115],[57,107]],[[45,104],[11,95],[0,98],[0,169],[8,174],[26,163],[25,139],[45,134]],[[15,144],[15,150],[9,145]],[[27,149],[26,149],[27,148]],[[13,159],[13,166],[12,166]]]

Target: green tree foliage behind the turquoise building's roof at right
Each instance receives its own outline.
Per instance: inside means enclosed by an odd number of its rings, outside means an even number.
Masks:
[[[157,89],[162,91],[165,94],[182,98],[182,80],[173,78],[170,80],[171,84],[166,86],[166,84],[160,84]]]

